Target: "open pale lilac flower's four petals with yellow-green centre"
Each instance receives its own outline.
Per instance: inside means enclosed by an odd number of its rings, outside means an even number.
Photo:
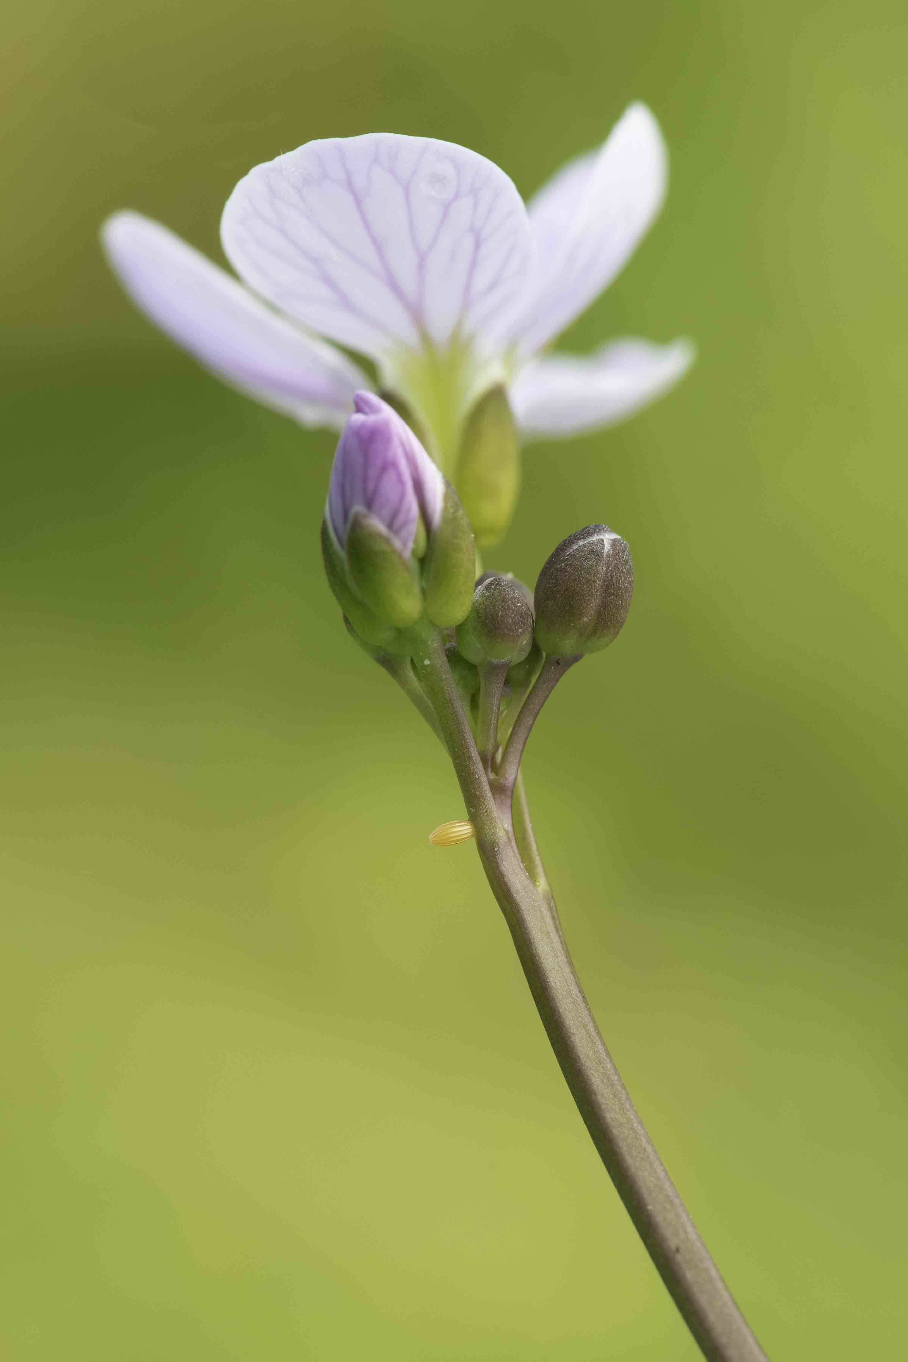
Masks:
[[[109,218],[103,244],[139,306],[233,387],[302,425],[342,426],[354,392],[374,387],[343,346],[374,362],[453,471],[461,422],[493,384],[525,437],[560,436],[618,421],[689,366],[686,340],[542,354],[649,227],[666,166],[640,104],[527,207],[498,166],[453,143],[338,138],[256,166],[230,195],[221,236],[242,283],[136,212]]]

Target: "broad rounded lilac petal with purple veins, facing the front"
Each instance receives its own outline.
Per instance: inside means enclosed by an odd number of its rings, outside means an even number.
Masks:
[[[451,142],[308,142],[249,172],[221,223],[245,282],[383,360],[457,335],[490,346],[525,294],[527,211],[508,176]]]

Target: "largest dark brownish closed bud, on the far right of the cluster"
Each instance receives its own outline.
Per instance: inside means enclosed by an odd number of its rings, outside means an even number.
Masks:
[[[628,618],[633,584],[630,549],[607,524],[562,539],[536,582],[539,647],[554,656],[607,647]]]

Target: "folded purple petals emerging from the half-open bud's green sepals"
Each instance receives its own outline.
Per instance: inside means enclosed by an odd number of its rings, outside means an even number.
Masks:
[[[432,537],[441,522],[445,484],[410,426],[374,392],[357,392],[340,434],[328,488],[328,520],[339,548],[357,512],[378,522],[408,558],[422,516]]]

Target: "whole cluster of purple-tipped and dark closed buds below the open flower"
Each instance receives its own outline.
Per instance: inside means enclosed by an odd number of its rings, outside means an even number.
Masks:
[[[476,577],[460,498],[418,437],[370,392],[354,406],[323,523],[328,582],[350,632],[429,722],[436,715],[410,659],[422,655],[427,632],[438,636],[494,782],[502,716],[517,711],[508,730],[528,731],[566,666],[617,637],[633,594],[630,550],[609,526],[592,524],[557,546],[535,591],[510,575]],[[523,741],[525,733],[520,749]]]

